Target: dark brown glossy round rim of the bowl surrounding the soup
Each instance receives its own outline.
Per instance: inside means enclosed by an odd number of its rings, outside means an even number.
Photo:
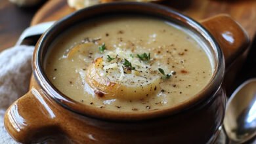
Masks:
[[[91,14],[90,12],[96,11],[96,14],[101,15],[100,12],[102,12],[102,10],[104,10],[107,13],[117,12],[118,10],[127,10],[131,12],[144,12],[145,14],[151,15],[156,14],[156,16],[167,16],[169,18],[173,18],[173,20],[177,20],[184,24],[188,24],[188,26],[191,26],[194,30],[200,33],[200,35],[205,39],[205,41],[207,41],[207,43],[209,43],[211,48],[214,50],[214,72],[207,86],[205,86],[203,90],[196,94],[196,96],[193,99],[183,101],[176,107],[158,109],[155,111],[152,110],[140,112],[122,111],[120,113],[119,111],[110,111],[106,109],[102,111],[102,109],[100,108],[79,103],[71,98],[68,98],[68,96],[62,94],[62,92],[60,92],[57,88],[53,86],[53,84],[51,84],[46,74],[44,73],[43,51],[45,50],[45,47],[47,47],[47,43],[49,43],[47,41],[53,41],[50,40],[51,37],[54,37],[53,33],[61,33],[56,31],[58,29],[62,29],[62,27],[65,27],[65,24],[68,25],[68,23],[72,23],[72,20],[75,19],[75,23],[79,22],[78,20],[80,20],[81,22],[83,21],[81,19],[83,19],[84,14]],[[77,113],[79,115],[83,115],[85,117],[98,118],[101,120],[134,121],[171,116],[177,113],[183,113],[188,109],[192,109],[195,105],[198,105],[199,103],[209,103],[209,101],[211,101],[211,99],[215,97],[216,92],[219,90],[219,88],[221,87],[221,83],[223,82],[224,56],[219,44],[217,43],[217,41],[215,41],[215,38],[211,35],[211,33],[209,33],[201,24],[199,24],[192,18],[185,16],[184,14],[181,14],[176,10],[154,3],[114,2],[95,5],[93,7],[88,7],[86,9],[77,10],[76,12],[56,22],[50,29],[48,29],[41,36],[41,38],[37,42],[37,45],[35,46],[35,50],[33,52],[32,68],[33,75],[39,86],[41,86],[41,88],[46,92],[47,96],[54,99],[54,101],[62,105],[62,107],[65,107],[66,109],[73,111],[74,113]]]

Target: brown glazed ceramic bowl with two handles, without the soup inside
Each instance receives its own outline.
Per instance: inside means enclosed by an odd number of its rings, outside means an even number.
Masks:
[[[51,84],[43,62],[49,45],[64,29],[91,18],[127,13],[163,18],[187,27],[208,45],[214,73],[198,96],[169,109],[120,113],[78,103]],[[223,14],[199,24],[151,3],[110,3],[79,10],[56,22],[37,42],[30,91],[9,107],[5,128],[21,143],[214,143],[225,111],[221,86],[225,64],[230,65],[248,45],[242,27]]]

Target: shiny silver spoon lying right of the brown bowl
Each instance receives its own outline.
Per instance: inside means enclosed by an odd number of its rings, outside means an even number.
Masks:
[[[223,124],[230,143],[244,143],[256,135],[256,79],[245,81],[228,99]]]

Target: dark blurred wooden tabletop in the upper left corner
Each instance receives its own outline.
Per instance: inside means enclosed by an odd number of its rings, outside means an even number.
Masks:
[[[0,52],[14,46],[39,6],[21,9],[8,0],[0,0]]]

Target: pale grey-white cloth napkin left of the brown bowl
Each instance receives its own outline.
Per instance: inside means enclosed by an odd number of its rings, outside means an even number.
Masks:
[[[6,132],[3,117],[13,101],[28,92],[33,46],[16,46],[0,53],[0,143],[16,143]]]

